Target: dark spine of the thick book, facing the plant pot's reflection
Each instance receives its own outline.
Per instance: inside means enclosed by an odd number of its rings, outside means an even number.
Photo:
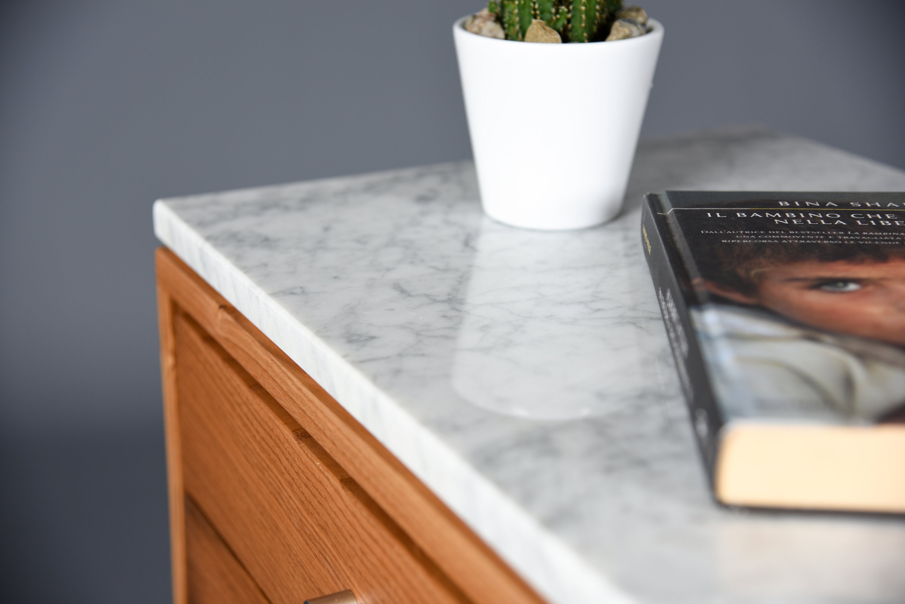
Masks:
[[[660,303],[663,325],[670,340],[672,356],[679,373],[682,393],[691,415],[691,427],[697,437],[704,466],[713,485],[713,470],[719,446],[719,430],[723,417],[716,404],[704,365],[700,345],[688,309],[684,283],[689,288],[688,271],[672,244],[660,197],[648,194],[643,205],[641,237],[644,257],[653,278],[653,288]]]

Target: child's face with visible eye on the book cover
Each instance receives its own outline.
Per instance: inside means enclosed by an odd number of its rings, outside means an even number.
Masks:
[[[774,266],[757,274],[755,296],[729,297],[820,329],[905,345],[905,259]]]

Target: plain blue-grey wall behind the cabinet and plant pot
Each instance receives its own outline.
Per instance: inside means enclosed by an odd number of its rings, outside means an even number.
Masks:
[[[0,593],[169,597],[150,204],[470,156],[481,0],[0,4]],[[760,122],[905,168],[905,3],[645,0],[643,136]]]

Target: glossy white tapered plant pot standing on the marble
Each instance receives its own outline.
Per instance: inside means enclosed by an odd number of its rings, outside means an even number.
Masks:
[[[534,229],[599,225],[622,207],[662,25],[617,42],[527,43],[452,26],[481,204]]]

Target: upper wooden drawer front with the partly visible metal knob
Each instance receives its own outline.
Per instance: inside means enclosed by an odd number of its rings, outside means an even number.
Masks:
[[[195,321],[173,327],[186,495],[268,599],[468,601]]]

